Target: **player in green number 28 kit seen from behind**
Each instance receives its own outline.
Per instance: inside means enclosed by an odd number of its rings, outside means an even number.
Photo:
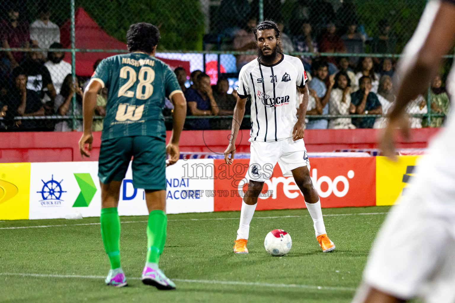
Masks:
[[[147,262],[142,282],[159,289],[175,288],[175,284],[159,269],[158,261],[166,241],[166,164],[174,164],[179,158],[178,143],[187,104],[175,74],[168,65],[154,57],[159,38],[159,30],[154,25],[131,25],[126,33],[130,53],[102,60],[84,93],[84,134],[79,140],[79,149],[82,156],[89,157],[96,94],[105,86],[109,89],[98,176],[101,185],[101,237],[111,262],[106,284],[117,287],[127,285],[120,266],[117,205],[121,181],[133,156],[133,186],[145,189],[150,213]],[[166,96],[174,104],[172,136],[167,146],[162,114]],[[166,153],[170,154],[167,162]]]

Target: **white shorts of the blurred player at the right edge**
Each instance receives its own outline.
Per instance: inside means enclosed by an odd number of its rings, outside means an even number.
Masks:
[[[353,302],[363,302],[367,286],[401,299],[455,302],[455,217],[431,212],[419,191],[408,193],[379,231]]]

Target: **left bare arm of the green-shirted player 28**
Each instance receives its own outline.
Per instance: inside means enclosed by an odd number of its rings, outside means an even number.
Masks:
[[[90,157],[91,144],[93,143],[93,136],[91,135],[91,124],[93,122],[93,114],[96,107],[96,95],[101,88],[102,87],[100,82],[96,80],[90,81],[90,83],[87,85],[87,88],[84,92],[84,97],[82,99],[84,133],[79,140],[79,151],[81,152],[82,158],[84,156]],[[88,150],[86,149],[86,144],[88,144]]]

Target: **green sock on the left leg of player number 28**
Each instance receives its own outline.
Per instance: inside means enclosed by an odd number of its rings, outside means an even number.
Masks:
[[[120,267],[120,218],[116,207],[101,209],[101,238],[111,262],[111,269]],[[150,222],[150,219],[149,219]],[[147,231],[148,235],[148,231]]]

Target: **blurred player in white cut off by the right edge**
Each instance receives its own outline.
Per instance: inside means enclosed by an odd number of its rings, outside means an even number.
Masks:
[[[381,140],[396,158],[394,134],[408,134],[406,104],[424,93],[455,43],[455,0],[430,0],[404,50],[396,105]],[[453,50],[453,49],[452,49]],[[453,89],[455,65],[447,84]],[[412,187],[394,206],[371,250],[354,303],[395,303],[420,297],[429,303],[455,302],[455,121],[430,143]]]

